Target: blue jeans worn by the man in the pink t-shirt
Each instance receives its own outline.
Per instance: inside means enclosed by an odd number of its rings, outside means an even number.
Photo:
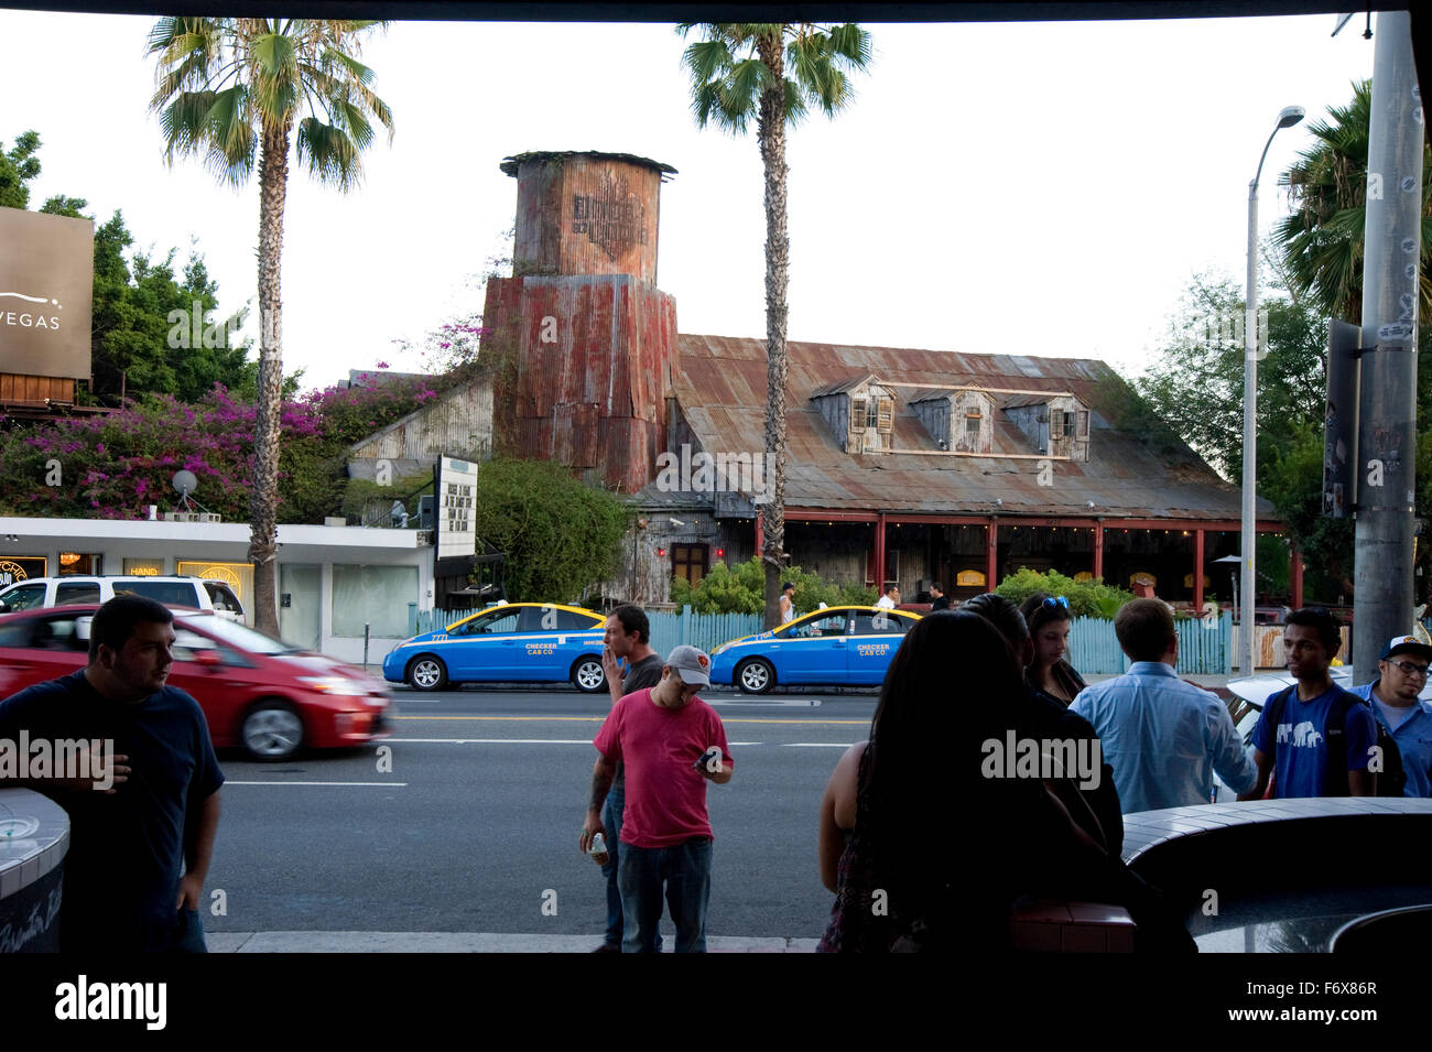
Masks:
[[[670,847],[621,844],[623,953],[657,953],[662,885],[676,925],[677,953],[706,952],[706,903],[712,895],[712,842],[693,836]]]

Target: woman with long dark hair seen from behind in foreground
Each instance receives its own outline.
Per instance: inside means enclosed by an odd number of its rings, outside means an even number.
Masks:
[[[1071,839],[1038,779],[982,779],[1022,696],[1004,638],[977,614],[941,611],[905,635],[871,739],[836,763],[821,803],[821,879],[836,893],[823,952],[998,948],[1020,843]],[[959,885],[957,887],[957,883]]]

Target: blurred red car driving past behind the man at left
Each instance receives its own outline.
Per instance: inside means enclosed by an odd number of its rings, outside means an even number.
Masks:
[[[0,698],[89,664],[97,605],[0,617]],[[285,760],[301,746],[361,746],[392,733],[388,687],[359,668],[299,651],[209,611],[175,610],[169,686],[199,701],[216,749]]]

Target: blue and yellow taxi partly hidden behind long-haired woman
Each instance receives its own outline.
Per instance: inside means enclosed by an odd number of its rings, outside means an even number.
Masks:
[[[878,607],[828,607],[773,631],[723,643],[712,683],[765,694],[776,684],[876,686],[919,614]]]

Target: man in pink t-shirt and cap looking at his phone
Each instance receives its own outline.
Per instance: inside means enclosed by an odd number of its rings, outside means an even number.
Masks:
[[[662,890],[676,925],[677,953],[706,952],[712,887],[712,827],[706,783],[730,781],[735,761],[716,710],[696,697],[710,686],[710,657],[676,647],[654,687],[627,694],[591,743],[601,753],[591,771],[591,802],[579,846],[606,834],[601,804],[617,761],[626,767],[621,813],[623,953],[656,952]]]

